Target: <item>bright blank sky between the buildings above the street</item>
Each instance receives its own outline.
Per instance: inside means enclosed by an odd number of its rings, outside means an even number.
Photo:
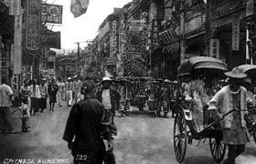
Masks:
[[[61,31],[61,48],[75,49],[76,42],[92,40],[103,20],[113,12],[114,7],[122,8],[132,0],[90,0],[86,14],[74,18],[70,13],[71,0],[48,0],[47,4],[63,5],[62,25],[48,26],[53,31]],[[81,43],[80,46],[86,46]]]

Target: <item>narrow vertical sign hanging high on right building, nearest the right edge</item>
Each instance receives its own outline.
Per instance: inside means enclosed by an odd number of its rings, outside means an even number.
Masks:
[[[232,50],[240,50],[240,15],[238,13],[233,14]]]

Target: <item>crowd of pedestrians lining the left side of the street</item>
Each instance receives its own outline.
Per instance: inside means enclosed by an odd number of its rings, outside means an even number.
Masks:
[[[0,133],[17,133],[11,124],[11,116],[16,111],[20,112],[22,132],[29,132],[31,116],[44,112],[48,107],[50,111],[54,111],[56,103],[62,107],[63,102],[66,101],[67,106],[71,107],[72,101],[78,102],[82,98],[80,94],[81,81],[78,76],[69,77],[66,82],[60,77],[57,81],[54,78],[48,80],[42,78],[40,81],[25,79],[19,89],[20,107],[11,112],[13,90],[6,83],[7,79],[3,77],[0,86],[0,112],[2,112],[0,114]]]

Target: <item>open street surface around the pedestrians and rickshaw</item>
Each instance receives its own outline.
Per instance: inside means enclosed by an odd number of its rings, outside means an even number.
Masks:
[[[177,164],[173,148],[174,118],[150,118],[136,112],[131,116],[115,118],[118,136],[114,139],[114,154],[117,164]],[[17,113],[15,114],[17,115]],[[30,119],[31,132],[0,136],[0,163],[14,163],[10,159],[27,159],[27,163],[71,164],[72,156],[67,143],[62,140],[68,107],[45,110]],[[16,131],[20,120],[14,118]],[[254,164],[256,145],[251,140],[246,152],[237,159],[237,164]],[[28,162],[29,161],[29,162]],[[215,164],[211,158],[208,140],[187,145],[185,164]]]

